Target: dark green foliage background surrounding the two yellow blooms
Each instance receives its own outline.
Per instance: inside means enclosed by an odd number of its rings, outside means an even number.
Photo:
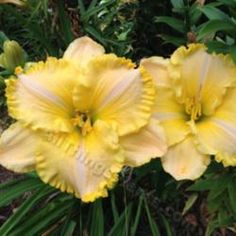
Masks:
[[[203,42],[236,61],[236,0],[28,0],[0,4],[0,50],[17,41],[28,61],[60,57],[89,35],[107,52],[139,61]],[[9,125],[0,70],[0,129]],[[109,197],[92,204],[0,170],[0,235],[235,235],[236,170],[214,161],[199,180],[175,181],[159,160],[125,168]],[[6,175],[6,177],[5,177]],[[9,177],[10,176],[10,177]],[[4,181],[3,181],[4,179]],[[7,180],[6,180],[7,179]]]

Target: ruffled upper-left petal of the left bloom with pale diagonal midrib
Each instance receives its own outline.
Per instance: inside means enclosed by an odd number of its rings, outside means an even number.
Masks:
[[[49,58],[7,80],[7,104],[10,115],[33,129],[70,131],[73,127],[72,90],[78,70],[70,63]]]

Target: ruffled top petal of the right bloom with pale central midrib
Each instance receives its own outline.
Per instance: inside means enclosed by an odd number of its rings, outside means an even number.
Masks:
[[[229,56],[209,54],[201,44],[180,47],[171,56],[169,73],[181,102],[201,103],[202,113],[212,115],[226,89],[235,84],[236,68]]]

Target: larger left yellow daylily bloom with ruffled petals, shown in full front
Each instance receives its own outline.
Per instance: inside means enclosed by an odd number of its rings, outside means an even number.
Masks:
[[[88,37],[63,58],[48,58],[8,79],[10,115],[0,140],[0,164],[40,178],[82,201],[107,196],[124,165],[166,152],[163,129],[150,119],[156,91],[130,60],[104,54]],[[145,146],[147,144],[147,146]]]

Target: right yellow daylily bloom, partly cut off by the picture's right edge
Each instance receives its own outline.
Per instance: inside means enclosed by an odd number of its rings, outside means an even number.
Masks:
[[[210,155],[236,165],[236,66],[229,56],[208,54],[202,44],[178,48],[170,59],[141,65],[153,76],[158,99],[153,117],[167,135],[164,169],[177,180],[196,179]]]

